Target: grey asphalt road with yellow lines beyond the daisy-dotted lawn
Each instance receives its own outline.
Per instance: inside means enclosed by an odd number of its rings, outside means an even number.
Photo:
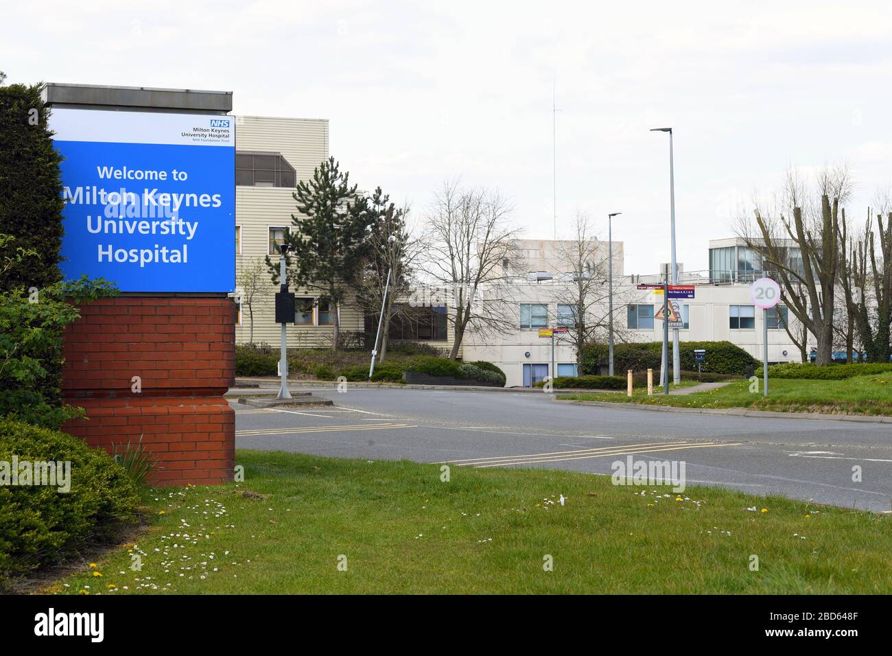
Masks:
[[[236,446],[340,458],[610,474],[684,461],[687,485],[892,510],[892,426],[685,415],[559,402],[550,394],[411,389],[316,392],[335,406],[233,402]],[[853,468],[861,468],[861,481]]]

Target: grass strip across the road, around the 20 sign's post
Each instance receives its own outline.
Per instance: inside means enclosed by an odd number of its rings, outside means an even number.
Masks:
[[[738,380],[731,385],[709,392],[697,392],[686,396],[648,396],[639,391],[634,396],[605,392],[601,394],[560,394],[560,400],[608,401],[611,403],[648,403],[673,405],[682,408],[752,408],[786,412],[828,412],[838,414],[865,414],[892,416],[892,373],[876,376],[859,376],[845,380],[805,380],[769,378],[768,397],[762,395],[762,378],[759,391],[749,391],[748,380]]]

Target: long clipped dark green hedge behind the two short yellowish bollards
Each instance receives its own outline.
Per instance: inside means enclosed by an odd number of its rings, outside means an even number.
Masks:
[[[682,370],[697,370],[694,362],[694,350],[706,349],[706,362],[702,370],[719,374],[738,374],[742,376],[747,372],[747,367],[757,369],[761,362],[731,342],[681,342],[679,354],[681,355]],[[641,371],[659,370],[663,353],[662,342],[641,342],[631,344],[617,344],[614,346],[614,370],[615,371]],[[669,366],[672,366],[672,345],[669,347]],[[583,375],[596,375],[599,365],[607,362],[607,345],[590,344],[582,349],[581,371]]]

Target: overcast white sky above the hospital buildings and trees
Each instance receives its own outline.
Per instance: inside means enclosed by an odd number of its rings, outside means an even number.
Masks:
[[[235,112],[326,118],[360,187],[425,212],[442,180],[498,187],[531,238],[578,210],[626,273],[706,269],[754,192],[848,162],[864,216],[892,183],[892,3],[6,3],[9,82],[231,90]],[[782,8],[779,8],[782,5]],[[603,220],[602,220],[603,218]]]

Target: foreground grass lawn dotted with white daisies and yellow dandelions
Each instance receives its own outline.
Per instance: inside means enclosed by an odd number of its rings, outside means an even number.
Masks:
[[[869,512],[547,469],[236,461],[244,483],[146,491],[147,533],[47,592],[892,593],[892,518]]]

